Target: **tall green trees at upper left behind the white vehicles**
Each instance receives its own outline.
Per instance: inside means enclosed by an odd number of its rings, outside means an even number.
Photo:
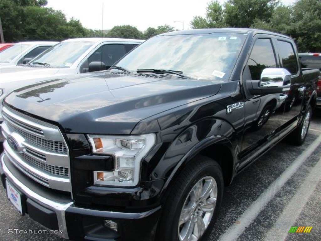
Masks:
[[[1,0],[0,16],[6,42],[26,40],[65,40],[84,37],[79,20],[66,20],[65,14],[43,7],[46,0]]]

